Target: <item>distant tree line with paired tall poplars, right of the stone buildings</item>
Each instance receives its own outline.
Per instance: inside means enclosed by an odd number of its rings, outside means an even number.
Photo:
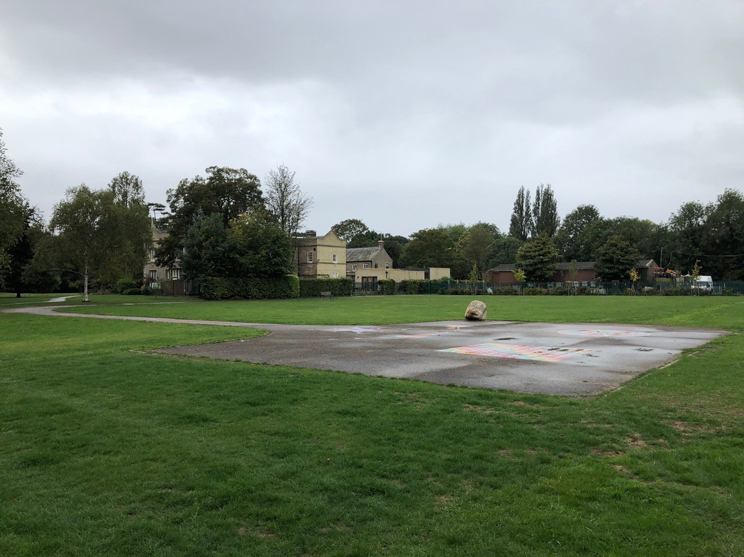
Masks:
[[[333,226],[347,246],[385,241],[394,267],[449,267],[452,278],[485,279],[487,270],[516,264],[529,281],[549,281],[559,261],[594,261],[603,280],[622,280],[639,260],[690,273],[695,265],[715,280],[744,280],[744,195],[726,189],[716,201],[684,203],[669,220],[603,217],[580,205],[559,217],[551,185],[519,188],[508,232],[493,223],[446,224],[409,238],[370,230],[362,220]]]

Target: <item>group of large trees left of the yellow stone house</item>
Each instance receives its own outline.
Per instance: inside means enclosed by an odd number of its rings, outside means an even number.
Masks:
[[[268,277],[292,271],[294,239],[312,207],[283,165],[263,184],[245,168],[213,166],[147,203],[138,176],[121,172],[101,189],[65,191],[45,223],[22,194],[0,130],[0,289],[121,290],[141,284],[151,255],[185,278]],[[152,214],[151,214],[152,212]],[[153,246],[153,227],[167,232]]]

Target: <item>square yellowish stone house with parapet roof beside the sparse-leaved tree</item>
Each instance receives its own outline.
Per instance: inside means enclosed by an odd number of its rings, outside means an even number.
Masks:
[[[300,278],[344,278],[346,276],[346,241],[333,230],[324,236],[308,230],[295,238],[295,264]]]

